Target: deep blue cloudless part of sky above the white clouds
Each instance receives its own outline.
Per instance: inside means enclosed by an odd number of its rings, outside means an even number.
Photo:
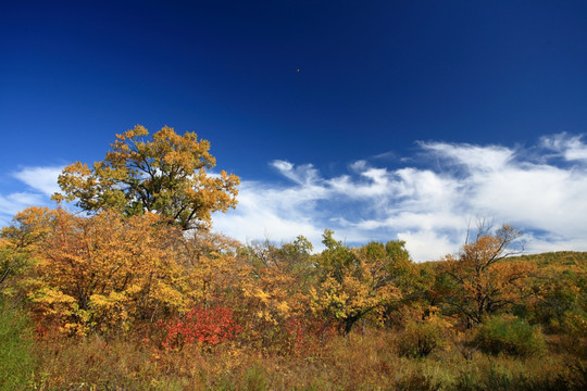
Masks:
[[[5,175],[101,160],[135,124],[196,131],[265,184],[288,180],[276,160],[328,178],[421,165],[416,141],[587,129],[585,1],[20,0],[0,22]]]

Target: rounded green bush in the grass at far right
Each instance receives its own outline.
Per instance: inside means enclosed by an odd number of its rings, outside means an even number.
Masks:
[[[539,327],[533,327],[515,316],[492,316],[483,324],[475,343],[485,353],[529,356],[546,350]]]

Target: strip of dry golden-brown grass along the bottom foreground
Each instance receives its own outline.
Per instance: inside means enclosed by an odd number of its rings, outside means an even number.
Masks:
[[[162,351],[140,342],[36,342],[37,390],[567,390],[587,364],[565,354],[525,361],[464,354],[451,340],[424,358],[397,354],[398,336],[335,337],[312,354],[262,354],[237,342],[213,351]]]

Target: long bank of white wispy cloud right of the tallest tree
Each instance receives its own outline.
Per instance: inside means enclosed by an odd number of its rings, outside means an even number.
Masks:
[[[237,210],[216,215],[215,228],[241,240],[304,235],[316,244],[328,227],[351,243],[405,240],[414,260],[424,261],[457,251],[467,220],[484,215],[524,229],[528,252],[587,250],[580,137],[542,137],[527,149],[419,146],[434,166],[391,171],[362,160],[349,164],[348,174],[324,178],[312,164],[272,162],[292,184],[243,180]],[[561,157],[573,164],[558,164]]]

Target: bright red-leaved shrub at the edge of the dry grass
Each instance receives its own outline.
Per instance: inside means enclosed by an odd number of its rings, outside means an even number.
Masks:
[[[214,346],[235,339],[241,331],[233,318],[233,311],[223,306],[196,306],[184,318],[166,321],[162,326],[166,335],[161,345],[165,349],[182,349],[193,343]]]

